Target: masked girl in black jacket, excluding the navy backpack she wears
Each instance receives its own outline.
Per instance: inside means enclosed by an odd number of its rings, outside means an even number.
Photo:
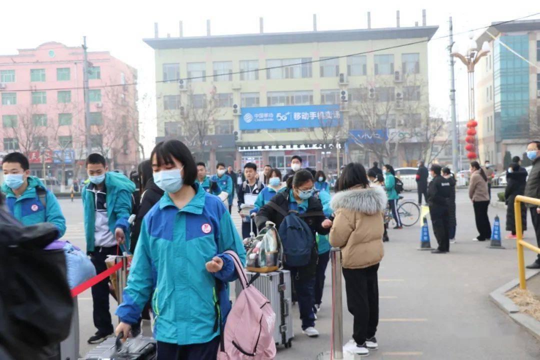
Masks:
[[[291,278],[296,289],[298,305],[300,308],[300,319],[302,320],[302,332],[309,337],[319,336],[319,331],[315,329],[315,314],[314,308],[314,288],[315,288],[315,271],[317,266],[318,251],[315,243],[315,233],[327,235],[332,227],[332,221],[328,220],[323,214],[321,201],[315,198],[313,174],[306,169],[299,170],[294,176],[287,180],[287,189],[275,195],[265,206],[257,213],[255,222],[257,227],[262,229],[266,226],[267,221],[275,223],[276,228],[280,229],[281,223],[289,211],[298,212],[305,221],[312,237],[314,244],[309,255],[309,261],[305,266],[289,266],[285,260],[285,269],[291,271]],[[279,211],[278,211],[279,210]],[[285,254],[287,256],[287,254]]]

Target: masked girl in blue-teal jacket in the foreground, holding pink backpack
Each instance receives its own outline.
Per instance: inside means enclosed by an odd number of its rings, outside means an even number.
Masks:
[[[129,336],[152,297],[158,359],[215,359],[235,278],[233,259],[223,253],[232,250],[245,264],[246,252],[223,202],[195,181],[187,146],[160,142],[150,159],[165,194],[143,220],[116,333]]]

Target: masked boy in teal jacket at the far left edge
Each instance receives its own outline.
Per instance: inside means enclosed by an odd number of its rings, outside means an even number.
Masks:
[[[58,228],[59,238],[66,232],[66,220],[55,194],[41,180],[30,176],[28,158],[21,153],[5,155],[2,162],[6,205],[11,215],[23,225],[50,222]]]

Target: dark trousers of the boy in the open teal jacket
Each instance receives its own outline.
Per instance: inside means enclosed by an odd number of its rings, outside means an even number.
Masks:
[[[96,268],[96,273],[100,274],[107,270],[105,259],[107,255],[116,255],[117,247],[96,247],[90,253],[90,260]],[[104,279],[92,287],[93,318],[94,326],[102,334],[112,334],[113,327],[111,313],[109,309],[109,278]]]

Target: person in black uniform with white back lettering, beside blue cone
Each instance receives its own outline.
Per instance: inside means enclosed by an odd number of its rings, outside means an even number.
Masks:
[[[434,254],[444,254],[450,251],[448,200],[451,195],[451,184],[450,180],[441,176],[441,170],[440,165],[431,165],[430,172],[433,180],[429,183],[428,188],[429,215],[438,243],[437,249],[431,252]]]

